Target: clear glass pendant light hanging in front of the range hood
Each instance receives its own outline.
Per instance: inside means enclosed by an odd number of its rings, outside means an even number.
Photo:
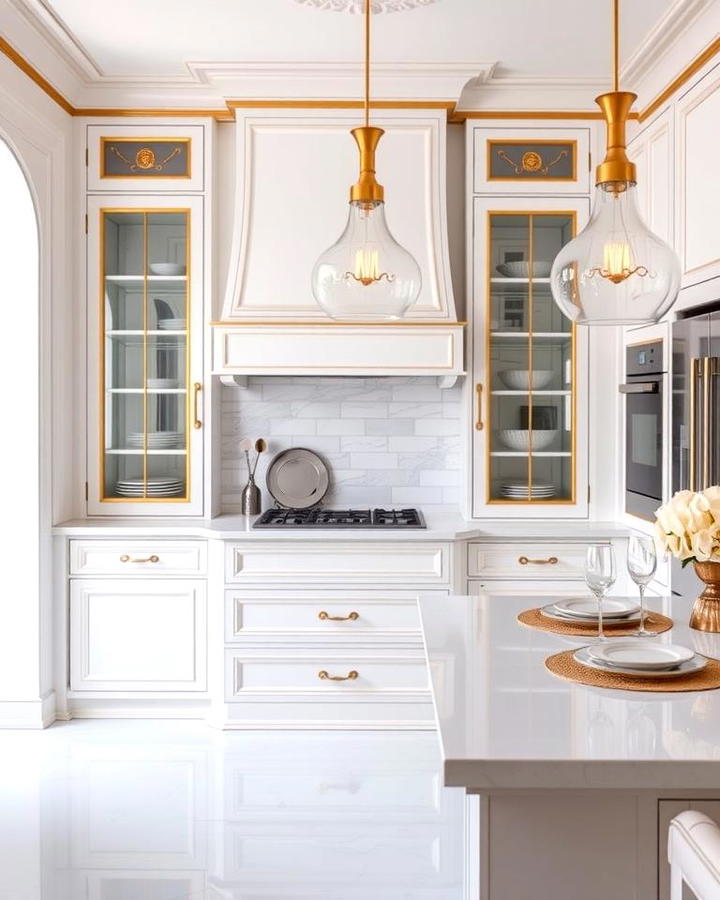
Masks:
[[[347,225],[315,263],[312,291],[333,319],[399,319],[420,293],[420,267],[392,236],[384,190],[375,180],[375,150],[385,133],[370,126],[370,2],[365,2],[365,124],[350,132],[360,177],[350,188]]]

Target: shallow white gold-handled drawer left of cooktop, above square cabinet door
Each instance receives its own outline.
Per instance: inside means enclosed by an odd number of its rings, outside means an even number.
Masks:
[[[71,575],[204,575],[205,541],[70,541]]]

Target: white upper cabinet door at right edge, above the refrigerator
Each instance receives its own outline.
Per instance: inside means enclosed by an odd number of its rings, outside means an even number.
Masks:
[[[720,275],[715,215],[720,205],[720,67],[711,69],[677,101],[675,116],[678,251],[687,287]]]

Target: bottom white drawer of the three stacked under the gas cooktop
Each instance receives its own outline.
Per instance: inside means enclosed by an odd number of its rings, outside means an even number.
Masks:
[[[354,673],[354,674],[353,674]],[[429,689],[422,653],[379,656],[304,651],[286,656],[227,653],[226,700],[256,693],[356,696]]]

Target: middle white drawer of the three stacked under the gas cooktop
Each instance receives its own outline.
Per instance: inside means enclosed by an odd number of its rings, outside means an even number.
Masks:
[[[360,638],[383,634],[420,640],[413,591],[225,592],[225,639]]]

